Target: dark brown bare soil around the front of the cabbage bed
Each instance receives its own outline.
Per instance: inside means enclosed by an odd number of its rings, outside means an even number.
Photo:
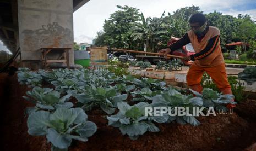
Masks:
[[[1,150],[50,150],[44,136],[27,133],[25,107],[32,106],[22,96],[30,90],[19,85],[17,76],[0,74]],[[72,99],[72,102],[74,100]],[[156,124],[160,132],[146,132],[132,141],[119,129],[107,125],[101,110],[88,112],[97,132],[88,142],[73,141],[70,150],[243,150],[256,142],[256,102],[237,105],[233,114],[198,118],[201,125]]]

